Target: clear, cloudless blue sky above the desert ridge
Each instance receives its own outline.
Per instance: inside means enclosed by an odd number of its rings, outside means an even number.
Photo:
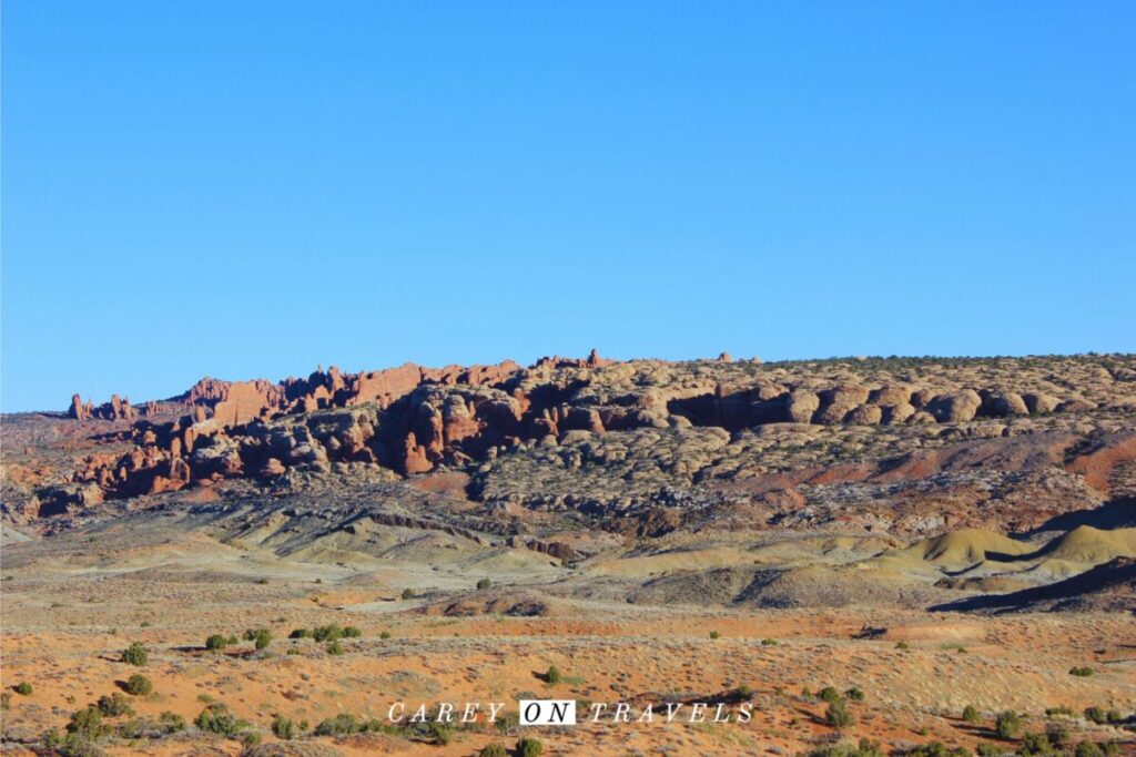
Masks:
[[[2,406],[1136,350],[1136,3],[3,3]]]

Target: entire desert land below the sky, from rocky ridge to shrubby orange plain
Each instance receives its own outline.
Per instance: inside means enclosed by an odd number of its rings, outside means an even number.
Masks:
[[[1133,355],[329,368],[2,445],[7,754],[1136,754]]]

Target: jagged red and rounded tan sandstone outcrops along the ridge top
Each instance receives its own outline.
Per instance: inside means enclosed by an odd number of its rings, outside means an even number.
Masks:
[[[543,358],[528,368],[512,361],[441,369],[406,363],[344,373],[332,367],[278,384],[207,377],[181,397],[148,403],[145,418],[131,429],[133,449],[85,460],[72,481],[93,482],[105,496],[134,496],[194,481],[319,474],[337,463],[418,476],[493,461],[525,445],[573,445],[636,429],[712,428],[728,440],[763,427],[938,426],[946,440],[975,435],[968,424],[978,421],[997,420],[1002,426],[988,423],[980,434],[1001,436],[1014,419],[1099,405],[1127,412],[1108,393],[1088,398],[1069,392],[1068,382],[1024,385],[1012,365],[996,369],[1003,377],[997,385],[983,386],[978,373],[967,373],[971,381],[934,370],[874,377],[864,362],[819,375],[724,359],[617,363],[593,351],[583,360]],[[1106,372],[1111,390],[1117,381]],[[1091,378],[1086,386],[1096,380],[1104,381]],[[135,417],[117,396],[93,407],[75,395],[69,414]]]

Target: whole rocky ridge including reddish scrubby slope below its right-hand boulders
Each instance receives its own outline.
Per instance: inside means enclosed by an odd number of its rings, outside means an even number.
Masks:
[[[1028,530],[1062,507],[1136,493],[1134,364],[613,362],[593,351],[527,368],[206,378],[141,412],[117,397],[92,410],[76,395],[69,415],[99,441],[69,471],[6,465],[6,487],[33,493],[6,497],[6,518],[351,465],[385,479],[465,471],[467,494],[487,507],[583,513],[648,533],[692,519],[924,535],[977,518]],[[1038,493],[1068,504],[1026,508]],[[934,512],[949,499],[969,505]]]

